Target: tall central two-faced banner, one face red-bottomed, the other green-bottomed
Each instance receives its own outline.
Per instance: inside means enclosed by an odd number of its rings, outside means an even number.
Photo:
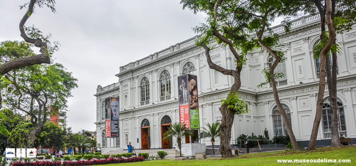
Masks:
[[[179,123],[188,129],[200,128],[197,77],[182,75],[178,77]]]

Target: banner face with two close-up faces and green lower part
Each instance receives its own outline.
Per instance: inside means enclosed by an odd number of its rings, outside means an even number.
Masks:
[[[188,74],[190,128],[199,129],[199,105],[197,76]]]

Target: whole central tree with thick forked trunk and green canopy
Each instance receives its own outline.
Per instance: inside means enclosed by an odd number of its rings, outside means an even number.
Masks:
[[[241,87],[241,70],[242,65],[246,63],[247,52],[254,48],[254,44],[247,41],[248,35],[244,33],[246,21],[249,15],[234,13],[234,8],[240,0],[180,0],[183,3],[183,9],[189,8],[196,14],[198,11],[207,14],[206,23],[194,28],[195,33],[201,33],[202,36],[196,42],[196,45],[202,46],[205,50],[209,68],[214,69],[224,75],[232,76],[234,83],[231,86],[229,95],[226,100],[235,100],[237,91]],[[231,50],[235,63],[235,69],[225,69],[212,62],[209,51],[215,46],[209,44],[210,41],[216,41],[222,46],[227,45]],[[241,51],[238,53],[238,48]],[[236,95],[236,96],[235,96]],[[229,97],[235,96],[234,99]],[[230,146],[231,128],[235,114],[245,113],[241,110],[234,110],[235,104],[228,105],[229,102],[222,103],[220,112],[222,122],[220,124],[220,148],[219,151],[223,158],[232,157]]]

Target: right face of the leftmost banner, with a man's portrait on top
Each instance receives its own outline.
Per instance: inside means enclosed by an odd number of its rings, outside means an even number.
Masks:
[[[110,107],[111,107],[110,135],[111,137],[119,137],[119,99],[111,97]]]

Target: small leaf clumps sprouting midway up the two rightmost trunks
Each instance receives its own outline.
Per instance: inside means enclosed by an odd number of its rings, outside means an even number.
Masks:
[[[314,52],[314,59],[316,58],[320,58],[320,51],[324,48],[324,46],[326,45],[328,39],[329,39],[329,32],[328,31],[324,31],[323,32],[323,36],[324,38],[319,41],[315,47],[313,48],[313,52]],[[342,51],[342,42],[338,42],[338,43],[335,43],[335,44],[332,44],[331,48],[330,48],[331,51],[335,52],[335,53],[338,53],[338,54],[341,54],[341,51]],[[330,57],[330,51],[328,51],[326,53],[327,56]]]

